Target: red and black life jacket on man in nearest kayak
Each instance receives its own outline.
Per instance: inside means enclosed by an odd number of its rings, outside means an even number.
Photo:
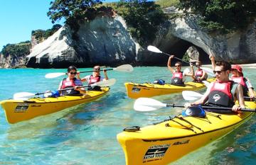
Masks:
[[[213,82],[208,96],[208,104],[213,106],[232,107],[234,105],[233,93],[231,89],[233,81]]]

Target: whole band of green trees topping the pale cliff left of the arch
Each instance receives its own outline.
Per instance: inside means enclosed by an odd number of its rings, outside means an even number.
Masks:
[[[117,3],[101,4],[101,0],[55,0],[51,2],[47,14],[53,23],[65,18],[65,23],[74,30],[73,39],[78,40],[76,32],[80,28],[79,23],[90,21],[99,14],[112,15],[114,8],[127,22],[132,36],[142,45],[154,40],[158,25],[166,19],[161,6],[154,1],[121,0]]]

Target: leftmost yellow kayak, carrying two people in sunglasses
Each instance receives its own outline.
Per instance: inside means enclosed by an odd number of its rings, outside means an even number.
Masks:
[[[102,91],[86,91],[85,96],[60,96],[57,98],[29,98],[27,101],[5,100],[1,106],[5,111],[8,123],[14,124],[41,115],[55,113],[81,103],[95,101],[104,96],[110,88]]]

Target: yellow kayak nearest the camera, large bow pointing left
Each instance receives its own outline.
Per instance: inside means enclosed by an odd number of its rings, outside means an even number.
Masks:
[[[256,108],[255,102],[246,102],[246,105],[247,108]],[[252,114],[224,115],[207,112],[206,118],[174,118],[183,126],[169,120],[142,127],[138,131],[121,132],[117,135],[117,140],[122,146],[127,165],[169,164],[223,137],[249,120]]]

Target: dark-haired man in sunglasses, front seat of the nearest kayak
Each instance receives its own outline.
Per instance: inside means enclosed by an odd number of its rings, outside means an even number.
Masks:
[[[185,103],[185,107],[197,105],[232,107],[232,110],[235,112],[245,108],[242,85],[230,81],[228,77],[231,72],[230,63],[224,61],[216,62],[213,72],[217,80],[210,83],[201,99],[194,103]],[[238,100],[239,105],[235,104],[236,100]]]

